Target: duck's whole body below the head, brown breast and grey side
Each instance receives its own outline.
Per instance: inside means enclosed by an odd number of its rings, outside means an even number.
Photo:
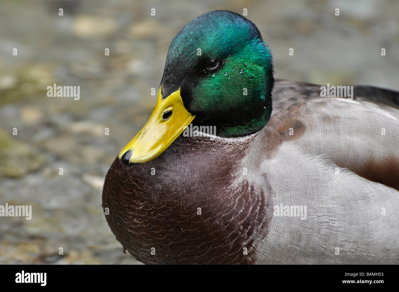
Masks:
[[[115,159],[111,230],[148,264],[398,264],[399,93],[354,93],[277,80],[255,134],[181,136],[147,163]],[[306,206],[306,219],[276,216],[282,205]]]

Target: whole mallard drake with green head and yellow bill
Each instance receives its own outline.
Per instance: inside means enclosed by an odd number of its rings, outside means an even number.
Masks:
[[[321,91],[275,81],[243,16],[190,22],[105,178],[116,239],[146,264],[398,264],[399,92]]]

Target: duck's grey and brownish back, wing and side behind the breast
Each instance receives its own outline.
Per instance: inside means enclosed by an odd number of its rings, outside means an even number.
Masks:
[[[276,82],[272,118],[256,137],[266,151],[251,151],[265,155],[274,210],[257,263],[399,263],[399,94],[320,91]]]

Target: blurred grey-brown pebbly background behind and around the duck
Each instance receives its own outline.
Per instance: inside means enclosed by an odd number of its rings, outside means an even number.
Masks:
[[[31,220],[0,217],[1,264],[138,263],[105,221],[104,176],[150,116],[176,33],[244,8],[276,78],[399,90],[396,0],[0,2],[0,205],[32,205]],[[80,100],[47,97],[53,83],[80,86]]]

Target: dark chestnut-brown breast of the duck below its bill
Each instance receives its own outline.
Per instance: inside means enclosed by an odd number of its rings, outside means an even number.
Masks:
[[[271,188],[237,180],[246,149],[180,137],[147,163],[115,159],[103,208],[117,240],[147,264],[254,263],[255,240],[269,230]]]

